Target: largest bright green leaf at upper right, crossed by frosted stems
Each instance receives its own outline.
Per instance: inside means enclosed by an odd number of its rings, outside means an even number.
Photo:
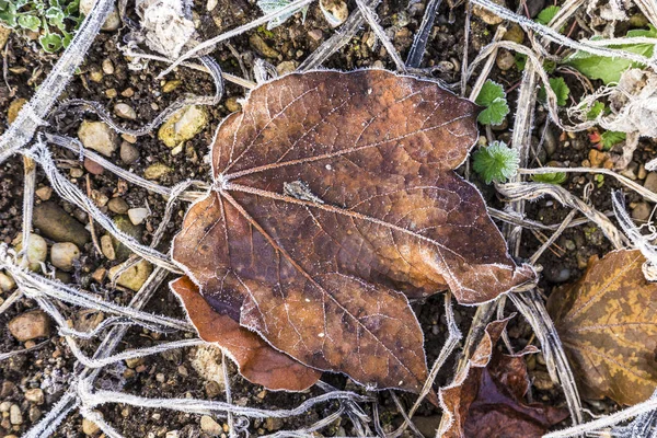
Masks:
[[[627,32],[626,37],[644,36],[648,38],[657,37],[657,28],[648,25],[649,30],[634,30]],[[614,49],[623,49],[633,54],[652,57],[655,48],[654,44],[614,44],[608,47]],[[564,61],[579,70],[584,76],[590,79],[600,79],[606,84],[618,82],[621,74],[631,67],[644,67],[641,62],[633,62],[629,59],[611,58],[599,55],[591,55],[586,51],[578,50],[567,57]]]

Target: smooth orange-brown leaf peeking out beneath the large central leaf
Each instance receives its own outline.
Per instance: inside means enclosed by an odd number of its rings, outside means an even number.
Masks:
[[[170,286],[183,301],[200,338],[223,348],[246,380],[269,390],[302,391],[320,379],[320,371],[272,348],[257,334],[212,310],[189,278],[181,277]]]

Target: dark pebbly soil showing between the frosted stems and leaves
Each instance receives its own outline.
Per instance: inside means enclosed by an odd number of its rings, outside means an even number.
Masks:
[[[540,0],[539,0],[540,2]],[[393,36],[395,47],[403,58],[405,58],[408,48],[413,42],[413,35],[419,26],[423,16],[425,1],[415,2],[411,8],[406,1],[388,0],[377,9],[381,18],[381,25],[390,30]],[[356,5],[348,2],[349,10],[354,11]],[[507,5],[515,9],[516,4]],[[260,16],[260,11],[253,2],[246,0],[219,0],[218,5],[208,12],[206,4],[196,1],[194,5],[195,18],[198,21],[198,30],[203,39],[217,35],[235,25],[246,23],[254,18]],[[280,66],[285,62],[293,62],[297,66],[308,57],[324,39],[330,37],[334,31],[327,25],[319,8],[313,4],[310,7],[306,21],[302,22],[299,14],[295,15],[285,25],[267,31],[261,26],[254,31],[247,32],[234,39],[231,45],[234,50],[241,55],[242,62],[247,71],[252,71],[253,62],[256,58],[265,58],[274,66]],[[463,26],[463,7],[458,7],[450,11],[447,2],[440,7],[439,16],[431,32],[428,43],[428,53],[425,56],[425,67],[435,67],[433,74],[445,81],[453,83],[460,80],[460,65],[463,57],[464,41]],[[471,28],[470,59],[473,59],[477,50],[485,45],[493,35],[493,26],[488,26],[479,19],[473,19]],[[130,127],[138,127],[151,120],[161,110],[174,102],[185,93],[199,95],[211,95],[214,84],[210,78],[194,70],[181,68],[171,73],[165,81],[155,79],[159,72],[165,67],[162,64],[150,62],[148,68],[141,71],[130,71],[127,68],[127,61],[117,49],[118,44],[123,44],[125,31],[103,32],[93,43],[92,49],[85,64],[81,67],[76,78],[67,88],[66,94],[61,101],[67,99],[85,99],[100,102],[111,108],[115,103],[123,102],[130,105],[136,114],[136,120],[124,123]],[[253,36],[261,38],[269,48],[266,50],[269,57],[265,56],[263,48],[254,47]],[[343,47],[337,54],[324,65],[326,68],[351,70],[366,67],[385,67],[394,69],[394,65],[387,56],[385,50],[380,45],[370,47],[368,41],[371,32],[366,27],[361,30],[349,44]],[[272,56],[273,55],[273,56]],[[242,71],[233,53],[223,45],[220,45],[211,56],[220,64],[226,72],[242,76]],[[4,58],[9,72],[7,83],[14,89],[15,94],[10,95],[7,84],[0,85],[0,125],[7,126],[7,112],[11,102],[16,99],[30,99],[39,82],[47,76],[51,69],[56,56],[45,56],[38,50],[33,42],[27,42],[23,37],[12,34],[8,43],[7,56]],[[113,72],[103,73],[103,61],[111,60]],[[284,65],[285,66],[285,65]],[[289,64],[288,64],[289,66]],[[97,72],[102,72],[100,79]],[[94,72],[96,74],[94,74]],[[491,78],[502,83],[506,89],[512,89],[520,79],[520,73],[516,69],[502,71],[494,68]],[[166,81],[180,80],[180,85],[171,91],[163,92],[163,85]],[[568,82],[572,85],[573,94],[577,99],[581,90],[576,82]],[[108,90],[115,90],[116,96],[108,97]],[[127,91],[131,90],[131,91]],[[113,95],[110,93],[110,95]],[[230,111],[227,107],[227,100],[231,97],[242,97],[244,89],[227,83],[227,91],[221,104],[209,107],[210,123],[203,132],[193,140],[185,143],[181,153],[172,154],[170,148],[164,146],[158,138],[157,131],[145,137],[140,137],[135,143],[138,151],[138,159],[129,164],[122,164],[115,153],[113,161],[129,169],[136,174],[142,174],[145,169],[154,162],[161,162],[174,171],[161,177],[158,183],[164,186],[172,186],[175,183],[186,178],[208,180],[209,166],[204,157],[209,151],[212,134]],[[515,93],[509,94],[511,106],[515,102]],[[230,102],[234,105],[234,100]],[[511,114],[514,108],[511,107]],[[55,112],[49,119],[50,127],[45,130],[56,128],[59,132],[74,137],[80,120],[82,118],[97,119],[94,114],[83,114],[80,111],[70,108],[64,113]],[[541,136],[540,128],[546,119],[545,112],[539,112],[535,122],[535,142],[539,143]],[[509,122],[512,122],[509,119]],[[503,129],[494,130],[497,139],[509,138],[508,126]],[[551,146],[543,147],[539,153],[542,163],[556,161],[563,165],[578,165],[588,159],[591,143],[586,134],[580,134],[570,138],[562,135],[553,125],[549,128]],[[654,153],[654,145],[642,142],[639,151],[636,152],[636,160],[645,162],[647,155]],[[546,151],[546,149],[549,149]],[[148,244],[152,239],[152,233],[159,220],[162,218],[165,201],[161,196],[148,193],[146,189],[124,184],[108,172],[103,174],[90,173],[77,160],[77,157],[64,150],[54,149],[54,155],[57,162],[65,169],[70,180],[78,184],[80,188],[87,191],[87,175],[89,175],[91,188],[100,191],[108,198],[120,196],[130,207],[142,207],[148,203],[152,210],[152,216],[141,227],[139,232],[142,235],[142,242]],[[646,155],[646,157],[643,157]],[[537,165],[535,163],[533,165]],[[23,163],[22,159],[13,158],[0,166],[0,240],[11,243],[21,230],[22,211],[22,192],[23,192]],[[477,184],[486,200],[494,207],[502,207],[502,200],[497,198],[489,186],[485,186],[477,181],[476,176],[471,180]],[[595,183],[595,189],[591,194],[592,205],[600,211],[610,211],[609,191],[615,187],[612,181],[604,180],[600,182],[592,175],[569,174],[568,181],[564,184],[572,193],[581,196],[583,188],[588,182]],[[48,186],[45,175],[37,173],[37,188]],[[76,211],[71,206],[61,201],[55,194],[51,195],[51,201],[58,203],[69,214],[78,220],[85,222],[85,214]],[[37,203],[42,200],[37,198]],[[638,203],[638,198],[630,198],[630,204]],[[107,211],[107,207],[103,207]],[[174,220],[168,228],[168,233],[160,245],[161,251],[168,250],[171,238],[178,230],[182,216],[186,204],[182,203],[176,207],[173,215]],[[543,223],[560,223],[567,215],[567,210],[556,205],[550,199],[542,199],[527,205],[527,216]],[[115,216],[112,211],[108,215]],[[101,234],[99,233],[99,237]],[[540,245],[541,241],[530,231],[525,231],[522,235],[522,254],[530,256]],[[572,281],[578,278],[586,261],[590,255],[602,255],[609,251],[609,244],[600,230],[592,224],[585,224],[568,229],[558,239],[556,245],[546,251],[539,264],[543,267],[543,276],[540,287],[545,296],[556,285],[565,281]],[[93,244],[87,244],[82,250],[81,263],[76,266],[74,272],[61,273],[60,279],[68,281],[89,290],[100,290],[99,284],[93,278],[93,274],[100,268],[110,268],[116,262],[110,262],[102,254],[99,254]],[[171,276],[173,279],[174,276]],[[105,280],[106,281],[106,280]],[[134,292],[125,288],[107,289],[105,299],[118,303],[127,303]],[[1,296],[1,299],[7,299]],[[0,315],[0,351],[11,351],[24,348],[25,345],[15,341],[7,328],[8,322],[14,316],[24,313],[30,309],[35,309],[36,303],[28,299],[23,299],[19,303]],[[446,326],[443,324],[445,315],[442,310],[441,296],[433,297],[425,301],[414,303],[422,327],[426,336],[426,351],[429,364],[437,357],[442,343],[447,337]],[[60,309],[73,325],[89,324],[97,318],[93,312],[82,312],[74,308],[61,306]],[[171,316],[184,318],[180,303],[175,297],[168,290],[164,284],[150,301],[147,311],[168,314]],[[470,320],[474,313],[472,308],[457,307],[457,322],[463,333],[468,333]],[[531,327],[526,321],[516,316],[509,327],[509,335],[515,347],[518,349],[525,347],[528,343],[535,343],[532,336]],[[119,349],[139,348],[152,346],[163,338],[174,339],[175,336],[164,336],[158,333],[151,333],[147,330],[130,328],[128,335],[122,342]],[[21,424],[11,424],[8,416],[3,415],[0,422],[0,437],[15,435],[21,436],[33,424],[39,420],[48,410],[58,401],[67,389],[67,382],[72,378],[73,356],[64,343],[62,338],[54,331],[50,337],[42,339],[38,347],[21,355],[16,355],[0,362],[0,402],[7,401],[11,404],[18,404],[22,413]],[[87,354],[92,354],[97,346],[96,341],[82,342]],[[102,373],[100,384],[111,389],[123,389],[123,391],[143,396],[153,397],[201,397],[211,400],[223,400],[223,393],[217,390],[217,385],[205,381],[194,366],[191,358],[194,356],[192,349],[175,350],[161,355],[154,355],[145,358],[139,364],[117,365],[108,368]],[[546,377],[544,361],[535,356],[528,358],[530,376],[534,382],[531,389],[532,397],[535,401],[564,406],[565,402],[558,390],[551,385]],[[443,371],[437,379],[437,384],[445,384],[452,374],[454,359],[452,358],[443,368]],[[238,404],[249,405],[262,408],[290,408],[308,397],[322,393],[320,390],[310,390],[307,393],[275,393],[264,391],[262,387],[251,384],[240,378],[234,368],[232,376],[233,400]],[[362,389],[353,385],[346,378],[341,376],[325,376],[336,388],[347,388],[357,392],[364,392]],[[540,384],[535,384],[540,382]],[[540,387],[540,388],[539,388]],[[44,389],[45,400],[41,404],[30,402],[24,393],[28,389]],[[393,400],[388,392],[376,395],[380,400],[380,418],[383,429],[393,430],[402,422]],[[406,406],[410,406],[414,397],[408,394],[400,394],[400,397]],[[250,434],[253,436],[272,434],[280,429],[297,429],[308,426],[313,422],[321,419],[336,410],[335,403],[321,404],[307,414],[285,420],[254,420],[249,426]],[[365,406],[368,414],[372,414],[370,407]],[[595,405],[588,404],[586,407],[600,413],[613,408],[612,403],[601,402]],[[175,413],[164,410],[145,410],[134,408],[122,405],[106,405],[101,408],[104,418],[113,425],[125,437],[174,437],[192,438],[208,436],[200,428],[200,416]],[[436,428],[440,419],[440,412],[428,403],[423,404],[416,417],[418,427],[423,431]],[[223,419],[218,419],[223,425]],[[177,435],[171,434],[177,431]],[[351,435],[351,425],[347,419],[335,422],[330,427],[320,431],[321,436],[349,436]],[[168,435],[171,434],[171,435]],[[55,433],[56,437],[78,437],[84,436],[82,428],[82,418],[79,414],[71,414]],[[320,435],[318,435],[320,436]],[[411,436],[411,435],[410,435]]]

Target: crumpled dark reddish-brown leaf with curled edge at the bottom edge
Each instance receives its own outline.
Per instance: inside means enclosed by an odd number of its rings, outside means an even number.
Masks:
[[[454,383],[440,389],[449,420],[437,436],[538,438],[568,416],[567,410],[522,401],[529,390],[522,356],[538,350],[530,346],[514,356],[495,350],[508,321],[489,323],[468,366]]]

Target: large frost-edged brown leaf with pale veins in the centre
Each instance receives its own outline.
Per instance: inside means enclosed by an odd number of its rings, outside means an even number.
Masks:
[[[533,280],[451,171],[477,136],[472,102],[382,70],[315,71],[258,87],[242,108],[216,134],[215,184],[173,258],[275,348],[418,391],[427,367],[407,297],[450,288],[474,304]]]

